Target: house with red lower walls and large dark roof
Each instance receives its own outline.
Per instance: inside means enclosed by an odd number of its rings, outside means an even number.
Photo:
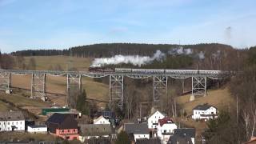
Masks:
[[[78,139],[78,122],[74,119],[74,114],[53,114],[47,121],[46,126],[50,134],[73,140]]]

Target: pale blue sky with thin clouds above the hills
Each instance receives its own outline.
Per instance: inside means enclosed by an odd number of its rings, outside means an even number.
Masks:
[[[0,0],[0,49],[104,42],[256,45],[255,0]]]

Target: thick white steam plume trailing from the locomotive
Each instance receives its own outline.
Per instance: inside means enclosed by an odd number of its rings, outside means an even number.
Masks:
[[[105,65],[117,65],[121,63],[132,64],[134,66],[142,66],[147,63],[153,62],[154,60],[162,61],[166,57],[166,54],[162,51],[157,50],[153,57],[139,56],[139,55],[115,55],[112,58],[95,58],[92,62],[92,67],[105,66]]]

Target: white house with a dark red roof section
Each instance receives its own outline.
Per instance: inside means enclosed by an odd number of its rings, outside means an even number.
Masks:
[[[158,120],[158,138],[162,141],[162,143],[166,144],[172,134],[174,134],[174,130],[177,129],[177,125],[174,121],[168,117],[162,118]]]

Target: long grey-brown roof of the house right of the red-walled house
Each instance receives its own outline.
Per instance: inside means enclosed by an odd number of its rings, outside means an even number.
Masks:
[[[107,124],[81,124],[78,125],[82,136],[102,136],[114,134],[110,125]]]

